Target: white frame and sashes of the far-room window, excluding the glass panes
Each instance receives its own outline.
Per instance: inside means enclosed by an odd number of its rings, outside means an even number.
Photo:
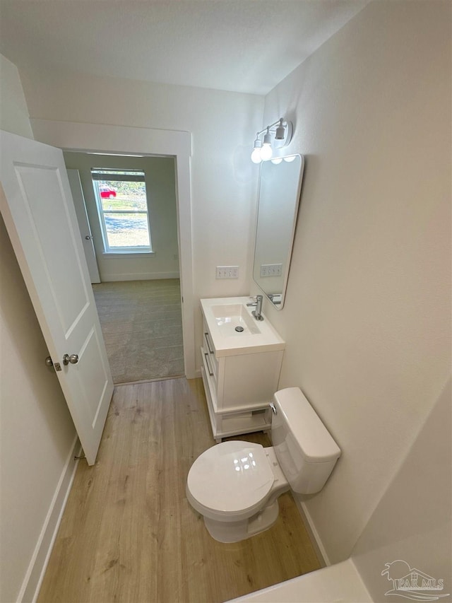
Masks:
[[[124,173],[119,173],[124,172]],[[104,254],[112,256],[117,254],[124,256],[127,254],[141,254],[147,256],[153,254],[152,238],[150,233],[150,207],[148,199],[148,187],[146,185],[146,176],[143,169],[133,168],[90,168],[91,181],[93,182],[93,190],[97,207],[97,216],[99,217],[100,230],[102,233],[102,242],[104,245]],[[102,206],[102,197],[100,196],[100,185],[97,182],[144,182],[146,209],[126,210],[126,209],[109,209],[105,210]],[[105,223],[105,213],[124,213],[124,214],[145,214],[146,223],[148,225],[149,245],[129,246],[129,247],[112,247],[109,245],[107,225]]]

